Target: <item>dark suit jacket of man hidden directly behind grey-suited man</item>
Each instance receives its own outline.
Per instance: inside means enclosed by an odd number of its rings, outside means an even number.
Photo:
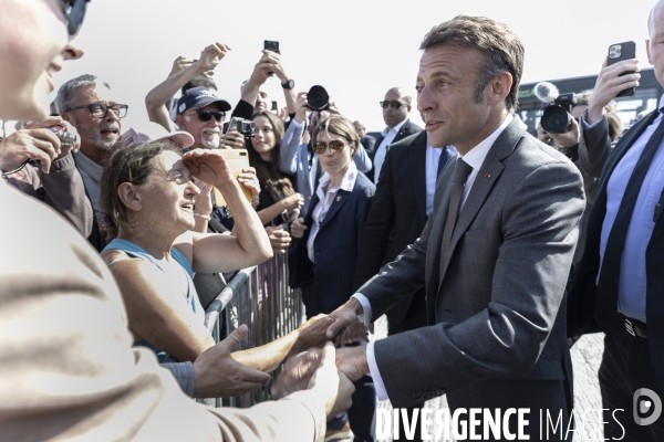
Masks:
[[[354,288],[419,238],[426,219],[426,133],[423,130],[387,147],[376,194],[362,231]],[[424,298],[423,287],[387,311],[391,327],[404,320],[413,299],[425,303]]]

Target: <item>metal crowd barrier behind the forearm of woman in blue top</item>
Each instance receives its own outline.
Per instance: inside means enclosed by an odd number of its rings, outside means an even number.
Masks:
[[[304,305],[299,290],[288,286],[286,255],[276,255],[258,266],[239,271],[206,311],[205,325],[218,343],[240,324],[249,334],[235,350],[258,347],[280,338],[302,325]],[[220,325],[221,323],[222,326]],[[210,407],[250,407],[269,399],[272,381],[263,388],[235,398],[203,399]]]

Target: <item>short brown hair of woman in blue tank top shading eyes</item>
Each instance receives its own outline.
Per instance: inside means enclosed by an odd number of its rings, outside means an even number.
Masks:
[[[100,194],[101,228],[106,232],[106,241],[117,236],[121,227],[129,228],[127,208],[117,194],[120,185],[144,185],[155,171],[155,158],[165,151],[181,155],[177,147],[166,140],[121,146],[108,158],[102,173]]]

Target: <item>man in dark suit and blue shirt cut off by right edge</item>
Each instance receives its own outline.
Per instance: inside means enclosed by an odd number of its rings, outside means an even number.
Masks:
[[[647,24],[647,57],[664,85],[664,1]],[[610,98],[639,78],[636,60],[605,63],[598,85]],[[605,439],[664,440],[664,419],[657,419],[664,398],[663,112],[664,97],[606,159],[568,301],[569,336],[606,334],[599,370]],[[581,124],[589,149],[611,143],[601,107],[591,104]]]

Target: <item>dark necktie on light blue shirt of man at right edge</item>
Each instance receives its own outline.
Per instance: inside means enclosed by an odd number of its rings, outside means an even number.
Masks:
[[[611,228],[606,249],[604,250],[604,260],[602,261],[602,270],[600,281],[598,283],[598,301],[595,303],[595,317],[603,327],[613,329],[618,325],[618,285],[620,282],[620,266],[622,261],[622,252],[625,245],[625,238],[636,199],[641,191],[641,185],[647,172],[650,164],[657,151],[657,147],[664,138],[664,119],[650,137],[634,171],[627,181],[625,193],[623,194],[615,221]],[[605,328],[605,329],[606,329]]]

